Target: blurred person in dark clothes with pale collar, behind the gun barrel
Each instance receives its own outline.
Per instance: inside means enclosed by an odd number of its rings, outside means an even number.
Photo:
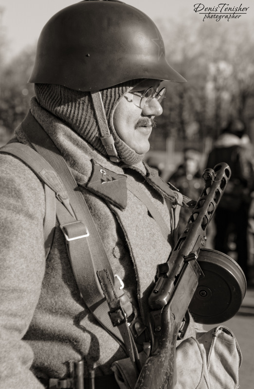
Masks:
[[[235,249],[235,259],[249,282],[247,233],[254,191],[254,158],[245,125],[238,119],[230,120],[223,129],[208,156],[207,167],[213,168],[219,162],[228,163],[232,175],[214,217],[214,248],[225,254]]]

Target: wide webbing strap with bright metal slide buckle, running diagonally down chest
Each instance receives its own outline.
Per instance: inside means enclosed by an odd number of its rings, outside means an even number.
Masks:
[[[87,203],[65,159],[31,113],[23,121],[22,128],[36,151],[50,163],[57,176],[61,177],[68,194],[67,197],[70,199],[75,219],[68,221],[70,215],[67,208],[61,206],[62,204],[58,201],[56,202],[56,216],[66,239],[73,274],[81,296],[105,330],[127,352],[123,332],[120,333],[117,326],[112,326],[109,306],[97,276],[99,271],[106,269],[112,282],[116,280]]]

